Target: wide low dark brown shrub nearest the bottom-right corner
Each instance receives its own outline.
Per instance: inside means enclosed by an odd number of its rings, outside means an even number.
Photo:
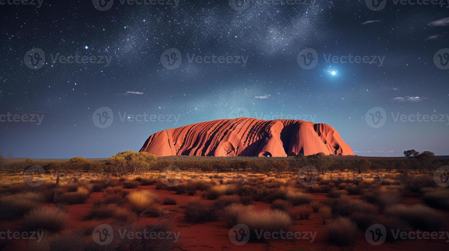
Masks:
[[[387,207],[385,213],[407,221],[414,229],[420,230],[438,230],[443,221],[443,215],[440,212],[424,204],[411,206],[403,204],[393,205]]]

